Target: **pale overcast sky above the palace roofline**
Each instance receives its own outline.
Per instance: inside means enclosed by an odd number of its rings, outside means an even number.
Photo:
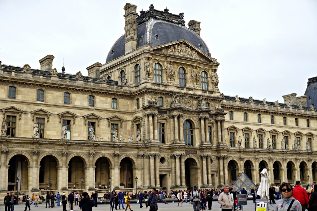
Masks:
[[[220,63],[218,84],[225,95],[283,102],[304,95],[317,76],[316,0],[0,0],[2,64],[40,69],[39,59],[55,56],[53,67],[68,73],[106,62],[125,33],[124,5],[156,9],[201,22],[201,37]]]

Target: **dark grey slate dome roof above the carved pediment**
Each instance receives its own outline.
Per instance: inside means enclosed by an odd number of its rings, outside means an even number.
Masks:
[[[137,48],[148,45],[148,46],[159,46],[176,40],[187,40],[193,46],[197,47],[200,51],[210,56],[209,49],[205,44],[204,40],[200,38],[194,31],[180,26],[171,22],[160,21],[160,20],[149,20],[139,26],[137,26]],[[123,56],[126,52],[125,34],[123,34],[111,47],[107,62],[117,59]]]

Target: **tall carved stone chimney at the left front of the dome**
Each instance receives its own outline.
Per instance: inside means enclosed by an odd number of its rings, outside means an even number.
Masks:
[[[126,3],[124,6],[124,18],[126,21],[126,53],[129,53],[137,48],[137,5]]]

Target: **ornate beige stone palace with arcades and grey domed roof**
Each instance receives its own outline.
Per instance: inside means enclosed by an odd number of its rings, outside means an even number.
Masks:
[[[40,69],[0,62],[1,197],[221,188],[241,172],[260,183],[263,168],[273,184],[316,183],[317,79],[283,103],[226,96],[200,22],[183,17],[127,3],[125,34],[87,76],[53,55]]]

